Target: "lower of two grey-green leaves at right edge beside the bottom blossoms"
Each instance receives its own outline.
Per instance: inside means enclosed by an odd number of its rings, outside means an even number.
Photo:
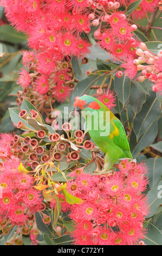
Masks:
[[[162,181],[158,183],[156,187],[148,191],[148,204],[150,205],[150,213],[146,216],[147,218],[152,217],[157,211],[159,205],[161,205],[162,198]]]

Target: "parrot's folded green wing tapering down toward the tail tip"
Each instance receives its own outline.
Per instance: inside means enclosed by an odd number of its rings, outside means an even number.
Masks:
[[[124,150],[124,152],[126,153],[126,155],[128,156],[128,158],[133,159],[130,148],[129,148],[129,143],[128,143],[128,139],[126,136],[126,132],[124,129],[124,126],[122,125],[121,121],[119,119],[115,119],[113,120],[114,125],[118,128],[119,130],[119,135],[118,136],[114,136],[113,137],[113,141],[114,143],[121,148],[122,150]]]

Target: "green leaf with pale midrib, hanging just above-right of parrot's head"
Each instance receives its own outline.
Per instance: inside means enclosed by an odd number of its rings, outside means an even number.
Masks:
[[[116,94],[118,94],[118,98],[124,107],[130,93],[130,80],[126,76],[117,77],[115,76],[114,81],[114,89]]]

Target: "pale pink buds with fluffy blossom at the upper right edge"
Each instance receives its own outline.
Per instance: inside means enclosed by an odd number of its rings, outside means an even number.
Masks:
[[[139,82],[150,80],[154,85],[152,90],[162,94],[162,52],[155,54],[148,50],[144,42],[140,42],[139,48],[135,51],[138,58],[127,58],[122,64],[124,74],[133,79],[140,71],[140,76],[137,77]]]

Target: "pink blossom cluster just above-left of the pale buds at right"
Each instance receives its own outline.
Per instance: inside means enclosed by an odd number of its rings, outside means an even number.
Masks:
[[[127,56],[136,56],[135,47],[139,43],[134,39],[132,32],[137,29],[137,26],[131,25],[121,11],[114,11],[112,15],[107,15],[106,20],[110,28],[96,34],[99,45],[112,54],[113,60],[124,60]]]

